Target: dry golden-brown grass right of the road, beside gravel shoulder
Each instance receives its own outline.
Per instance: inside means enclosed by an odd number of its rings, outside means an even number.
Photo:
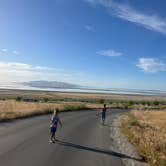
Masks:
[[[166,165],[166,110],[132,111],[122,119],[123,132],[151,166]]]

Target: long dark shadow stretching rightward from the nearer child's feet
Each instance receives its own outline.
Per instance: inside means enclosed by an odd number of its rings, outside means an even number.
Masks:
[[[115,157],[132,159],[132,160],[136,160],[136,161],[142,161],[142,159],[134,158],[134,157],[122,154],[122,153],[114,152],[112,150],[105,150],[105,149],[100,149],[97,147],[82,146],[82,145],[73,144],[73,143],[65,142],[65,141],[61,141],[61,140],[56,140],[56,143],[59,145],[62,145],[62,146],[66,146],[66,147],[72,147],[72,148],[76,148],[76,149],[87,150],[87,151],[111,155],[111,156],[115,156]]]

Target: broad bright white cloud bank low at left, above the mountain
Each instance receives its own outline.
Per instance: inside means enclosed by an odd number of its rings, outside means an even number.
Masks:
[[[85,76],[81,72],[66,71],[48,66],[31,65],[20,62],[0,61],[0,82],[25,82],[32,80],[64,81],[82,83]]]

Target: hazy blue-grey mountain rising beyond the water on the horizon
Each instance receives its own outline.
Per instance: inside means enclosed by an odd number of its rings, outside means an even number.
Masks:
[[[24,82],[23,85],[35,87],[35,88],[62,88],[62,89],[74,89],[81,88],[79,85],[70,84],[59,81],[30,81]]]

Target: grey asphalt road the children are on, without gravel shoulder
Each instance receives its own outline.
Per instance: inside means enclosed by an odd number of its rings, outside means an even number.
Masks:
[[[110,124],[101,125],[95,114],[60,114],[63,127],[54,144],[48,142],[50,115],[0,123],[0,165],[123,166],[124,156],[111,150]]]

